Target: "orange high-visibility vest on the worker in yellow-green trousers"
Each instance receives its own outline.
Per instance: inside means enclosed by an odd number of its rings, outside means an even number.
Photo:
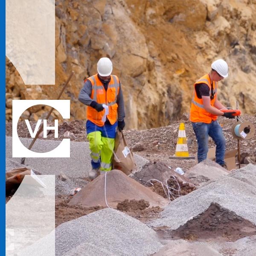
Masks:
[[[107,118],[111,125],[117,120],[117,95],[119,94],[119,79],[117,76],[111,75],[110,82],[108,84],[108,90],[106,91],[104,85],[99,80],[98,75],[94,75],[88,78],[92,84],[92,93],[90,98],[94,101],[105,104],[108,106],[109,113]],[[105,110],[97,112],[96,109],[88,106],[87,107],[87,119],[98,126],[103,126],[102,117],[104,116]]]

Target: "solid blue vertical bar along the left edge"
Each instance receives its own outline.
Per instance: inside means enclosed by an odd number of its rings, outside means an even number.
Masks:
[[[2,177],[0,177],[0,188],[1,188],[1,204],[3,208],[0,210],[0,255],[6,254],[5,248],[5,14],[6,4],[5,1],[0,1],[0,167]]]

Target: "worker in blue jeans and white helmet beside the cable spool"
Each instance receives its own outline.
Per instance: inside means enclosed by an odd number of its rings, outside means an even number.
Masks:
[[[226,140],[222,128],[218,123],[218,116],[234,118],[233,113],[224,113],[221,109],[226,109],[217,99],[218,81],[228,77],[227,62],[218,59],[211,65],[210,73],[202,76],[194,84],[192,96],[190,121],[198,143],[198,163],[207,158],[208,138],[216,144],[215,161],[219,165],[226,167],[224,155],[226,149]]]

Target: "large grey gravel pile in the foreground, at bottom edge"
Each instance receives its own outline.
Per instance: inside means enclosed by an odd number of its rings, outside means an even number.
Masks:
[[[51,243],[53,234],[26,248],[19,256],[35,255],[35,251],[36,255],[48,255],[45,244]],[[154,230],[115,209],[102,209],[55,229],[55,256],[148,256],[161,247],[163,244]]]

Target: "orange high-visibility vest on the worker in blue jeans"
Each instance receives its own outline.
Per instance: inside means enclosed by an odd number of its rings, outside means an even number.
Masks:
[[[209,74],[207,74],[207,75],[202,76],[194,84],[194,93],[193,93],[192,102],[191,102],[190,118],[189,119],[192,122],[204,122],[204,123],[209,124],[210,122],[212,122],[212,120],[215,121],[217,119],[217,116],[207,112],[204,109],[203,99],[199,99],[196,94],[195,85],[202,84],[202,83],[207,84],[209,86],[210,94],[211,94],[211,79],[210,79]],[[216,96],[217,96],[218,83],[216,81],[213,81],[212,87],[213,87],[214,97],[213,97],[213,99],[211,99],[211,105],[213,106],[214,102],[216,100]]]

